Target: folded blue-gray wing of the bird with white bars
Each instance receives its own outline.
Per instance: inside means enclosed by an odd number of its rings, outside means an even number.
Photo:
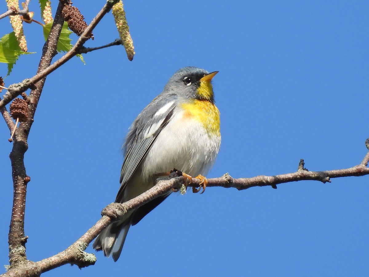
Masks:
[[[172,118],[175,108],[174,103],[165,112],[160,114],[160,116],[155,117],[154,114],[160,107],[173,100],[174,98],[167,97],[164,102],[160,96],[155,98],[132,123],[124,144],[125,157],[120,174],[121,186],[115,202],[120,202],[123,199],[127,183],[146,157],[158,134]]]

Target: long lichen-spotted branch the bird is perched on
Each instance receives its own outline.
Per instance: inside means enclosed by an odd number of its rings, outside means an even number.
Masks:
[[[303,167],[303,160],[301,160],[296,172],[275,176],[260,175],[252,178],[238,179],[234,179],[226,173],[219,178],[207,179],[207,187],[237,188],[238,190],[241,190],[251,187],[276,187],[277,184],[301,180],[315,180],[325,183],[330,182],[330,178],[368,175],[369,168],[366,167],[368,161],[369,152],[365,155],[362,162],[354,167],[340,170],[307,171],[306,168]],[[189,186],[199,187],[200,182],[201,181],[199,179],[193,178],[192,183]],[[183,177],[159,178],[156,185],[143,194],[124,202],[123,204],[112,203],[107,205],[101,212],[101,219],[66,250],[47,259],[28,264],[28,267],[17,267],[16,272],[11,269],[7,273],[4,273],[3,277],[19,276],[20,274],[25,273],[24,270],[27,270],[27,276],[37,276],[37,274],[49,271],[64,264],[76,264],[80,268],[93,265],[96,261],[96,257],[94,254],[84,252],[84,250],[109,223],[123,218],[125,213],[139,208],[156,197],[164,195],[173,189],[178,189],[181,185],[183,185]]]

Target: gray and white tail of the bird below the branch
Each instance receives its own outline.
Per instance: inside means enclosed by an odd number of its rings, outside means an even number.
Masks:
[[[129,216],[123,222],[113,222],[108,225],[103,232],[97,236],[93,243],[93,248],[97,251],[103,250],[105,256],[112,256],[113,260],[117,261],[122,252],[128,230],[131,227],[131,221],[131,216]]]

